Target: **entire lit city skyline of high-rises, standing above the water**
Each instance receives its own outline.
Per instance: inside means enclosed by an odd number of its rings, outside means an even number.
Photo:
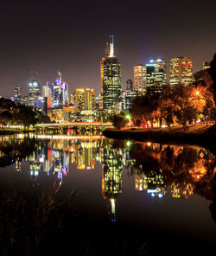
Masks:
[[[203,62],[204,69],[209,66],[209,62]],[[101,91],[98,97],[92,88],[78,87],[71,93],[69,104],[68,85],[62,81],[60,72],[58,74],[59,77],[53,83],[47,82],[45,86],[32,78],[29,82],[29,96],[22,97],[21,87],[15,86],[14,101],[42,109],[50,113],[49,116],[55,121],[66,117],[67,120],[75,121],[103,120],[102,116],[129,110],[136,96],[148,93],[160,97],[162,86],[167,83],[171,86],[187,86],[193,80],[193,61],[187,57],[175,57],[169,61],[167,67],[167,62],[157,57],[146,64],[138,64],[133,67],[133,80],[126,81],[124,91],[121,64],[114,54],[114,36],[110,35],[110,42],[106,43],[105,57],[100,61]]]

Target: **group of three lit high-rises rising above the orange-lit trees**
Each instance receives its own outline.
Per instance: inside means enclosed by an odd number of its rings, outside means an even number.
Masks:
[[[205,62],[206,63],[206,62]],[[206,64],[207,66],[207,64]],[[205,68],[205,67],[204,67]],[[139,64],[133,67],[134,90],[137,95],[160,96],[162,86],[168,83],[167,62],[162,58],[149,60],[145,65]],[[193,80],[193,61],[187,57],[176,57],[169,61],[169,84],[188,85]]]

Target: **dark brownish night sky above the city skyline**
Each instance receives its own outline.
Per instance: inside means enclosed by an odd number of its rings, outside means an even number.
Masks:
[[[31,71],[41,85],[60,70],[69,85],[100,92],[99,62],[115,36],[123,88],[151,57],[193,58],[194,72],[216,52],[216,1],[1,1],[0,95],[28,95]]]

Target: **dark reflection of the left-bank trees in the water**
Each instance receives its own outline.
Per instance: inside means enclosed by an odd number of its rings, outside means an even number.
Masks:
[[[12,138],[0,141],[0,167],[5,167],[16,161],[29,157],[35,150],[35,139]]]

